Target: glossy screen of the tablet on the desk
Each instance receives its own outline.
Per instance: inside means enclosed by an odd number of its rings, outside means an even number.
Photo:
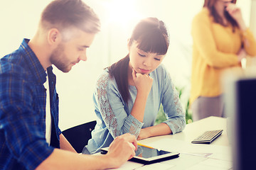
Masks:
[[[138,145],[137,151],[135,152],[137,157],[143,157],[143,158],[157,157],[159,155],[170,154],[170,153],[171,152],[167,152],[159,149],[151,149],[149,147],[142,147],[139,145]]]

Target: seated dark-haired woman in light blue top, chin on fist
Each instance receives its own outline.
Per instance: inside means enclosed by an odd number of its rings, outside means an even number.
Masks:
[[[178,93],[161,64],[169,47],[163,21],[157,18],[140,21],[127,47],[129,54],[107,67],[97,80],[93,96],[97,125],[83,149],[84,154],[108,147],[124,133],[142,140],[181,132],[186,125]],[[154,125],[161,104],[167,120]]]

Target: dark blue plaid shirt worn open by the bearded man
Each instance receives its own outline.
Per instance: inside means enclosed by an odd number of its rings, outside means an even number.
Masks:
[[[46,72],[24,39],[0,60],[0,169],[36,169],[60,147],[55,75],[47,69],[52,116],[51,146],[46,142]],[[58,135],[57,135],[58,134]],[[53,146],[54,145],[54,146]]]

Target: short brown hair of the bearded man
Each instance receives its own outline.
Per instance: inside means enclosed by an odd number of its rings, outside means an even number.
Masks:
[[[81,0],[54,0],[43,10],[42,28],[57,28],[63,31],[78,28],[86,33],[100,31],[100,19],[95,12]]]

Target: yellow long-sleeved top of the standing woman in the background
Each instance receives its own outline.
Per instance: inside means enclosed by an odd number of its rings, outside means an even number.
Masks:
[[[232,26],[213,22],[208,8],[198,13],[192,22],[193,60],[190,103],[198,96],[214,97],[222,94],[220,76],[223,70],[240,67],[238,52],[243,43],[247,55],[256,55],[256,41],[247,28],[242,32]]]

